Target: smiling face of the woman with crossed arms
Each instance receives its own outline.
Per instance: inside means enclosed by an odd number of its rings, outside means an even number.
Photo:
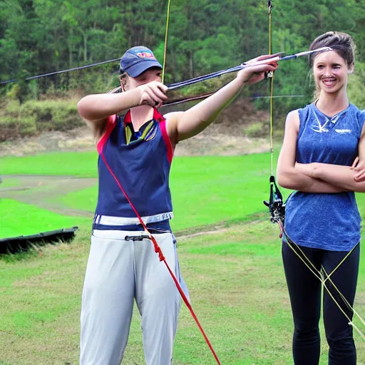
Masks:
[[[321,93],[346,93],[347,78],[354,71],[336,51],[319,53],[314,58],[313,74]]]

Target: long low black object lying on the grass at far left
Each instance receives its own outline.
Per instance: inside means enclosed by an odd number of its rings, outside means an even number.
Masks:
[[[27,250],[31,244],[44,245],[46,243],[70,242],[77,230],[78,227],[71,227],[40,232],[36,235],[1,238],[0,254],[14,254],[21,250]]]

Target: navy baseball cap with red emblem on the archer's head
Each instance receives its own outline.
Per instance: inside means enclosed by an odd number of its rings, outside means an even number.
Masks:
[[[132,77],[137,77],[150,67],[163,68],[152,51],[144,46],[129,48],[120,58],[120,73],[126,72]]]

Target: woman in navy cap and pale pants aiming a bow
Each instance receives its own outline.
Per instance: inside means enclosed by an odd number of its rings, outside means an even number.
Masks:
[[[99,153],[98,205],[81,308],[81,365],[120,364],[133,299],[142,317],[146,363],[171,364],[180,294],[152,242],[143,237],[143,227],[118,183],[181,281],[170,230],[168,178],[175,145],[210,125],[242,86],[261,81],[265,72],[276,68],[276,64],[245,68],[189,110],[161,115],[157,108],[168,99],[168,88],[161,83],[162,66],[152,51],[138,46],[120,59],[121,93],[79,101],[78,112],[93,130]]]

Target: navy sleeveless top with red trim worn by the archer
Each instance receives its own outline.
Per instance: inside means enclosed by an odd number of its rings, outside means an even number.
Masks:
[[[153,120],[145,123],[137,136],[130,110],[125,118],[110,116],[106,133],[97,148],[99,189],[96,215],[136,217],[115,178],[141,217],[158,214],[163,217],[164,213],[172,212],[169,173],[173,147],[165,118],[157,110],[154,110]],[[165,219],[169,217],[166,215]]]

